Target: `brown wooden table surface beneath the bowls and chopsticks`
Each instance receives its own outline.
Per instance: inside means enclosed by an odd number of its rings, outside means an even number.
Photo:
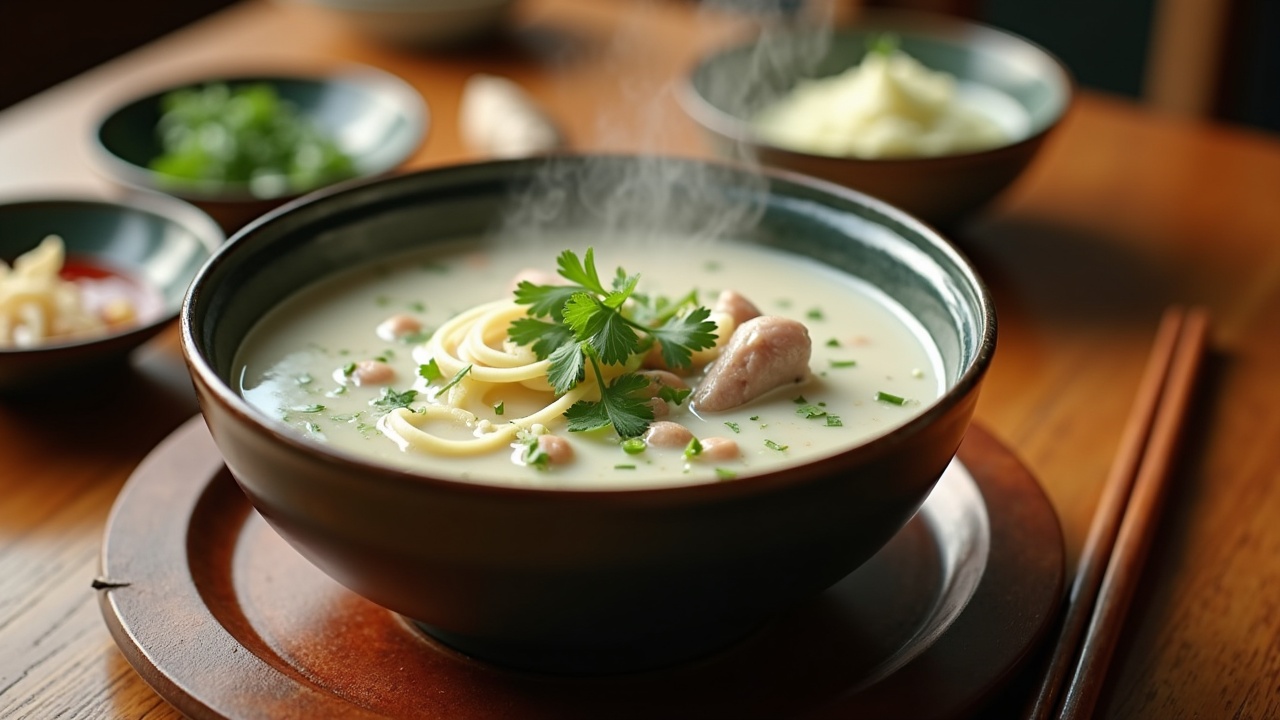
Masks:
[[[660,0],[526,0],[499,51],[380,47],[250,0],[0,113],[0,197],[110,195],[87,140],[168,77],[353,60],[431,109],[412,167],[475,158],[472,72],[531,91],[581,150],[704,154],[669,94],[723,18]],[[625,22],[623,22],[625,19]],[[1098,717],[1280,715],[1280,138],[1084,92],[1030,170],[954,232],[992,286],[1000,345],[978,419],[1038,477],[1080,551],[1161,310],[1202,304],[1213,354]],[[0,716],[170,717],[90,584],[111,502],[196,406],[172,329],[128,370],[0,401]]]

